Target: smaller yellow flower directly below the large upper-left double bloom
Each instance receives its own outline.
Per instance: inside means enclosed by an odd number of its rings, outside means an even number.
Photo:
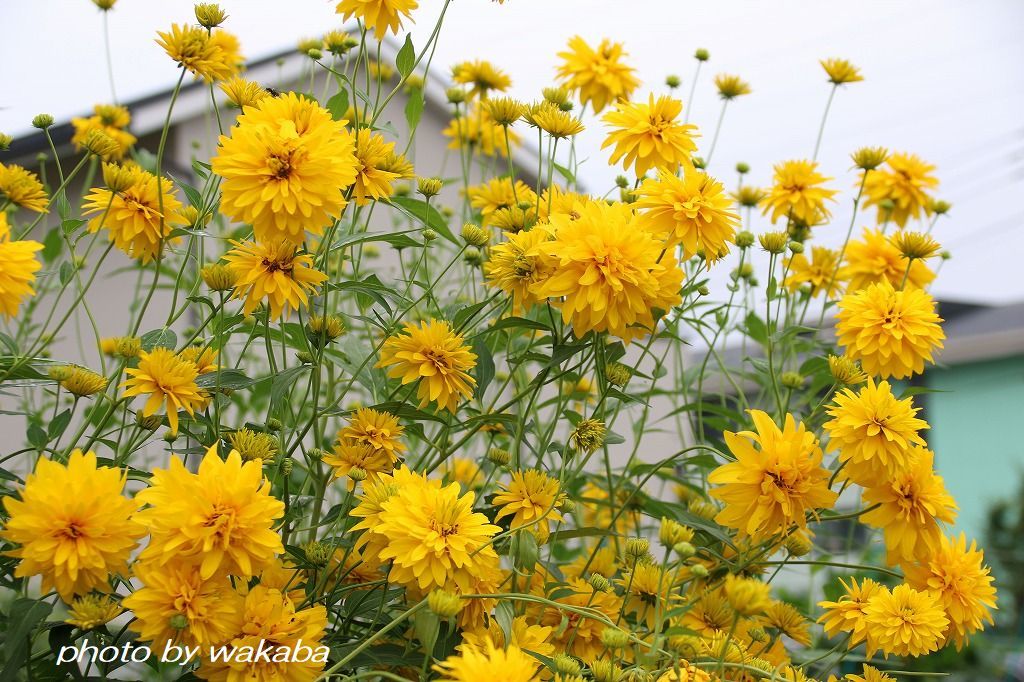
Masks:
[[[272,319],[291,316],[292,310],[304,307],[309,294],[327,281],[313,267],[313,257],[297,253],[290,242],[236,242],[224,260],[238,275],[231,298],[245,297],[245,314],[251,314],[266,301]]]

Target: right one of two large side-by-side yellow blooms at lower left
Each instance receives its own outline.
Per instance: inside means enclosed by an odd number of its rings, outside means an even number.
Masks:
[[[285,505],[270,497],[261,463],[243,463],[237,451],[224,461],[210,447],[197,473],[174,456],[135,498],[150,505],[136,514],[151,534],[143,560],[195,563],[204,580],[218,570],[250,578],[284,552],[271,528]]]

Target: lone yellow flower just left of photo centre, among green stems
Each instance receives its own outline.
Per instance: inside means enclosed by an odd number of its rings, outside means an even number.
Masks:
[[[402,334],[384,342],[376,367],[389,368],[387,376],[402,385],[420,381],[420,407],[436,402],[455,412],[459,401],[473,394],[476,380],[469,371],[476,367],[476,353],[446,322],[430,319],[419,327],[406,325]]]

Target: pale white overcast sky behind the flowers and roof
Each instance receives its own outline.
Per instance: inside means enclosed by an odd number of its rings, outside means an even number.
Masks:
[[[258,58],[300,37],[340,26],[327,0],[225,0],[227,29]],[[441,0],[421,0],[410,27],[421,45]],[[174,65],[153,42],[158,29],[193,20],[186,0],[119,0],[110,14],[120,99],[169,88]],[[0,2],[0,130],[25,132],[40,112],[66,120],[110,100],[100,12],[88,0]],[[817,59],[842,56],[865,81],[847,86],[833,106],[820,161],[844,189],[836,221],[820,232],[838,243],[849,221],[854,176],[847,155],[864,144],[914,152],[939,166],[939,195],[953,204],[936,236],[953,252],[934,287],[939,297],[978,302],[1024,299],[1017,268],[1024,254],[1024,2],[1019,0],[455,0],[435,68],[486,58],[505,69],[512,93],[536,97],[551,84],[555,53],[573,34],[625,42],[643,80],[641,93],[683,79],[692,54],[711,51],[691,122],[710,144],[719,103],[711,77],[738,74],[752,95],[729,106],[711,171],[729,186],[745,161],[751,181],[770,180],[771,165],[810,156],[829,85]],[[620,169],[599,151],[603,129],[590,120],[578,138],[589,158],[582,179],[603,193]],[[866,224],[864,222],[863,224]],[[763,229],[764,222],[755,229]],[[859,225],[858,225],[859,228]]]

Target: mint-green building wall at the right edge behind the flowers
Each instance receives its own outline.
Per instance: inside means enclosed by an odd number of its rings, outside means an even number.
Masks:
[[[959,505],[955,530],[983,542],[988,506],[1020,491],[1024,476],[1024,356],[928,371],[918,396],[932,428],[925,439]]]

